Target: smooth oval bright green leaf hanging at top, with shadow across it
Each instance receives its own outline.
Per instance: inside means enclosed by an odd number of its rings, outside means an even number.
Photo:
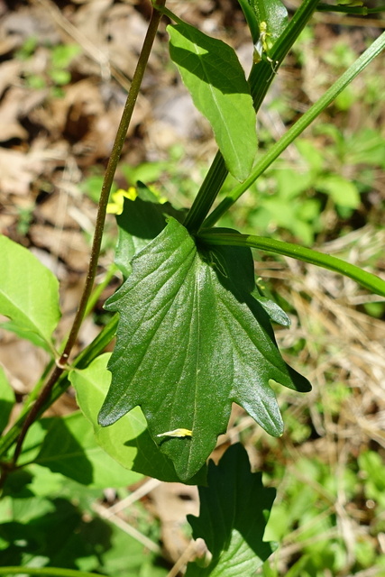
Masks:
[[[250,87],[234,50],[187,23],[168,26],[170,57],[197,109],[213,127],[227,169],[241,182],[257,151]]]

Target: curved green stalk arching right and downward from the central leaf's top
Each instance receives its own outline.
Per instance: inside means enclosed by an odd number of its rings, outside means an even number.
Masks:
[[[208,245],[231,245],[231,246],[249,246],[253,249],[262,251],[276,252],[284,256],[290,256],[298,261],[316,264],[324,269],[340,272],[345,277],[355,280],[358,284],[369,289],[372,292],[385,297],[385,280],[380,279],[371,272],[360,269],[349,262],[342,261],[335,256],[330,256],[324,252],[313,251],[298,244],[284,243],[273,238],[263,236],[254,236],[252,234],[230,234],[211,231],[202,231],[197,237]]]

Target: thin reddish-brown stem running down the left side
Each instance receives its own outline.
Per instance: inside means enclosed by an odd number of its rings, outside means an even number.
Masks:
[[[160,0],[160,5],[164,5],[165,0]],[[76,343],[78,337],[78,331],[80,329],[80,325],[83,321],[87,310],[87,302],[91,295],[92,288],[94,286],[94,281],[96,277],[96,269],[97,269],[97,261],[99,259],[100,248],[102,244],[103,238],[103,231],[105,227],[105,212],[106,206],[108,203],[108,198],[110,195],[111,186],[113,184],[113,180],[115,177],[115,170],[117,167],[117,163],[120,159],[122,149],[124,146],[124,141],[127,135],[128,126],[131,121],[131,117],[133,115],[133,108],[136,103],[136,99],[139,94],[139,90],[142,84],[142,78],[144,74],[144,70],[146,69],[147,62],[150,57],[151,48],[153,41],[155,40],[155,35],[158,30],[158,26],[160,23],[161,13],[160,11],[153,9],[151,14],[151,20],[147,29],[147,33],[142,45],[142,51],[139,56],[135,72],[133,74],[133,81],[127,96],[127,100],[124,105],[124,112],[122,114],[122,119],[120,121],[115,142],[113,146],[113,150],[111,152],[110,159],[108,160],[108,165],[105,170],[105,179],[103,181],[102,190],[100,194],[100,200],[96,215],[96,227],[95,227],[95,234],[94,234],[94,241],[92,243],[91,249],[91,257],[89,260],[88,271],[87,271],[87,279],[85,283],[85,287],[83,289],[82,296],[80,298],[78,311],[75,316],[74,322],[71,326],[69,331],[69,338],[67,343],[64,347],[63,352],[61,353],[60,360],[57,362],[57,366],[54,368],[53,372],[50,375],[50,379],[47,381],[45,387],[41,390],[41,394],[39,398],[36,399],[35,403],[32,405],[31,411],[28,413],[24,423],[23,428],[20,432],[19,438],[17,439],[17,443],[14,449],[14,459],[13,464],[17,462],[17,459],[20,455],[23,446],[23,440],[29,427],[32,425],[34,420],[40,415],[41,406],[44,404],[46,398],[50,396],[50,391],[54,384],[59,380],[61,374],[66,369],[67,362],[69,360],[69,354],[72,351],[74,344]]]

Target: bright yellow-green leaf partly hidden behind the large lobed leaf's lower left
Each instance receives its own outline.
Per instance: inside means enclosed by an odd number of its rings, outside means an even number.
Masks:
[[[109,353],[103,354],[87,369],[69,374],[69,380],[77,391],[78,405],[92,424],[97,443],[126,469],[160,481],[180,481],[170,459],[152,441],[139,407],[133,408],[114,426],[102,428],[97,424],[97,414],[111,382],[111,373],[106,368],[109,358]],[[204,482],[205,478],[206,471],[203,470],[191,482]]]

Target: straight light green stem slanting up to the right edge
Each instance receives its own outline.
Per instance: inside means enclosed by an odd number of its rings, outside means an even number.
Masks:
[[[248,179],[246,179],[242,184],[233,188],[233,190],[222,200],[222,202],[216,206],[215,210],[208,215],[204,223],[205,228],[210,228],[219,220],[219,218],[225,214],[225,212],[234,205],[239,197],[243,195],[248,188],[252,186],[256,179],[258,179],[261,174],[270,167],[270,164],[277,160],[280,154],[288,148],[291,142],[303,133],[309,124],[311,124],[316,117],[325,110],[325,108],[330,105],[335,97],[338,96],[345,87],[347,87],[353,78],[355,78],[380,52],[385,48],[385,32],[383,32],[380,37],[374,41],[368,50],[365,50],[358,60],[356,60],[353,65],[347,69],[341,78],[335,82],[335,84],[330,87],[321,98],[312,105],[311,108],[307,110],[307,113],[303,114],[301,118],[289,128],[288,132],[285,133],[278,142],[271,146],[270,151],[258,160],[254,169],[252,169],[252,174]]]

